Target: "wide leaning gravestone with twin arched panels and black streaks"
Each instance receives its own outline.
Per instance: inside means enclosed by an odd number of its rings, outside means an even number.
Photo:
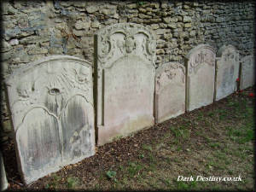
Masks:
[[[31,183],[95,154],[92,67],[55,55],[6,80],[21,176]]]

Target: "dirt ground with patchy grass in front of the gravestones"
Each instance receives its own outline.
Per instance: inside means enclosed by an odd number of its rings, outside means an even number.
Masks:
[[[12,140],[3,143],[9,190],[254,190],[255,88],[184,113],[25,185]],[[194,181],[177,178],[192,177]],[[238,181],[196,178],[235,177]]]

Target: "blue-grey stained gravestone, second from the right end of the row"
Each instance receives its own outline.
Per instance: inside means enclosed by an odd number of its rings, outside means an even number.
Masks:
[[[222,46],[216,58],[215,101],[236,91],[239,75],[239,53],[232,45]]]

